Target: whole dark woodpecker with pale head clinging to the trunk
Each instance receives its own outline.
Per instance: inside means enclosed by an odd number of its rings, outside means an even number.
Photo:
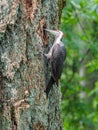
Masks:
[[[46,95],[48,97],[48,94],[53,84],[56,83],[56,85],[58,86],[58,82],[63,70],[63,64],[66,58],[66,49],[61,41],[63,37],[63,32],[61,32],[60,30],[50,30],[50,29],[44,29],[44,30],[53,34],[55,38],[48,54],[44,54],[45,57],[50,61],[51,65],[51,78],[45,90]]]

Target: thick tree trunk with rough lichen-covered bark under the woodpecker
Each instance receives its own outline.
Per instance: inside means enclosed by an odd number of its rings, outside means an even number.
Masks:
[[[58,27],[57,0],[0,0],[0,130],[62,130],[60,88],[46,98],[41,52]]]

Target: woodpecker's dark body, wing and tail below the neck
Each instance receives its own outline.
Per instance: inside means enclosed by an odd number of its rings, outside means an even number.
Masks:
[[[51,56],[48,58],[50,60],[51,65],[51,78],[46,87],[47,97],[53,84],[56,83],[56,85],[58,86],[65,58],[66,58],[66,49],[63,43],[60,41],[60,43],[54,44]]]

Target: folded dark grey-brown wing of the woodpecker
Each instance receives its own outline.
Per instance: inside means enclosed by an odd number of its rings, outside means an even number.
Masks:
[[[52,76],[56,82],[60,79],[63,63],[65,60],[65,47],[63,44],[56,44],[53,47],[52,58],[51,58],[51,71]]]

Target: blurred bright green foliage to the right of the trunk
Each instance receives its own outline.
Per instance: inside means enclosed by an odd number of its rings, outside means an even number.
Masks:
[[[67,58],[61,77],[64,130],[98,130],[98,0],[69,0],[61,29]]]

